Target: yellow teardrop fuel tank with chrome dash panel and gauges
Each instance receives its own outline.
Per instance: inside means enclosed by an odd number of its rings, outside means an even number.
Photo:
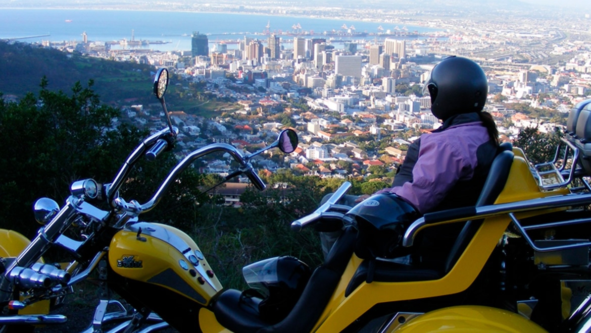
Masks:
[[[163,286],[203,305],[222,289],[197,244],[165,224],[139,222],[116,233],[109,265],[118,275]]]

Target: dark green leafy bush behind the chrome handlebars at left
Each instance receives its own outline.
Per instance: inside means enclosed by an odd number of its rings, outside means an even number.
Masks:
[[[37,198],[50,197],[64,203],[73,181],[94,178],[111,182],[126,156],[147,135],[128,125],[112,128],[111,120],[119,116],[119,110],[101,105],[92,86],[93,81],[87,87],[76,83],[67,95],[48,90],[47,80],[43,79],[38,96],[29,93],[18,103],[0,99],[3,227],[31,236],[38,227],[31,212]],[[148,194],[154,192],[175,163],[173,154],[163,154],[151,163],[142,159],[121,194],[126,200],[147,201]],[[187,171],[158,205],[160,212],[199,195],[195,190],[199,184],[200,176]],[[162,214],[158,220],[168,221],[174,214]],[[194,214],[191,211],[180,216]]]

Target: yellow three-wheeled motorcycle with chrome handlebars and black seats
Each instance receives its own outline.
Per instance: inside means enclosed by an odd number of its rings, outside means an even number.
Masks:
[[[154,93],[168,115],[167,84],[161,69]],[[586,102],[571,110],[553,161],[532,165],[521,149],[502,145],[473,207],[419,216],[392,194],[349,207],[340,204],[351,186],[344,182],[326,203],[291,223],[293,231],[342,231],[324,263],[314,270],[290,256],[252,263],[242,270],[247,290],[223,288],[186,233],[139,216],[191,162],[212,152],[238,162],[226,180],[244,174],[263,190],[249,161],[268,149],[293,152],[297,134],[283,130],[277,141],[246,156],[223,143],[204,146],[178,162],[147,203],[125,201],[119,189],[135,162],[143,155],[155,159],[174,144],[177,129],[169,119],[168,128],[135,148],[111,183],[84,179],[72,184],[63,207],[47,199],[35,204],[35,216],[46,224],[18,257],[4,260],[0,302],[25,309],[99,270],[106,287],[133,309],[106,312],[115,301],[102,300],[89,332],[114,318],[126,319],[115,328],[125,331],[151,319],[157,324],[145,331],[167,325],[212,333],[591,331],[591,241],[581,227],[591,221]],[[82,230],[83,241],[64,234],[72,228]],[[429,231],[453,237],[429,247]],[[36,262],[51,246],[76,259],[63,270],[39,269]],[[66,274],[67,280],[57,277]],[[19,292],[28,298],[16,300]],[[18,318],[25,317],[5,310],[0,325],[25,322]]]

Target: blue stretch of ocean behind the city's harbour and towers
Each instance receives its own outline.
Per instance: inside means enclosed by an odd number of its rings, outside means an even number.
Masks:
[[[355,26],[355,31],[374,33],[378,27],[395,30],[395,25],[368,21],[281,17],[249,14],[220,14],[171,11],[109,11],[76,9],[0,9],[0,39],[20,38],[24,42],[82,41],[86,32],[89,41],[147,40],[165,44],[145,46],[152,50],[190,50],[191,34],[207,34],[212,44],[236,41],[245,35],[266,41],[267,25],[271,32],[345,31],[343,25]],[[398,27],[402,28],[402,27]],[[434,31],[424,27],[406,27],[408,31]],[[133,35],[132,35],[133,34]],[[25,38],[27,37],[27,38]],[[291,36],[281,36],[291,40]],[[320,36],[319,36],[320,37]],[[373,39],[374,37],[367,37]],[[229,44],[229,48],[233,48]]]

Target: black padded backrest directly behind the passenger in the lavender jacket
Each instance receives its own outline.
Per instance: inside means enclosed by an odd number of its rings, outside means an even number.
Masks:
[[[492,161],[491,170],[486,177],[482,191],[476,201],[476,207],[483,205],[492,205],[496,198],[501,194],[505,187],[509,171],[511,171],[511,164],[513,163],[514,154],[511,150],[511,145],[499,146],[499,152]],[[470,243],[483,220],[467,221],[460,234],[457,236],[455,243],[452,246],[449,256],[447,257],[444,266],[445,273],[449,272],[453,265],[456,265],[457,259],[462,255],[466,246]]]

